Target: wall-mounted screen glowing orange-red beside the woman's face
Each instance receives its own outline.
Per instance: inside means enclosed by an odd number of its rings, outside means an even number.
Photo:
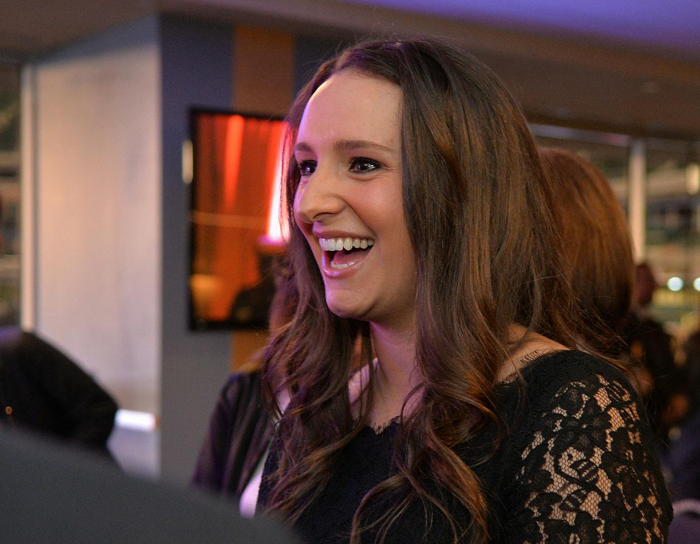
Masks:
[[[266,329],[283,254],[285,123],[191,112],[190,328]]]

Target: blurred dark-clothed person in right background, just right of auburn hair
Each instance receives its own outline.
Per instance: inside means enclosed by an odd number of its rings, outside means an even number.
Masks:
[[[687,412],[687,396],[675,365],[671,335],[648,309],[658,286],[649,263],[638,264],[631,312],[622,337],[629,347],[630,362],[636,369],[657,441],[666,447],[668,432]]]

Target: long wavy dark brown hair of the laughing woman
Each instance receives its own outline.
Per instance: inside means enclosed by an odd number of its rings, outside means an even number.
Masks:
[[[488,505],[455,447],[489,422],[498,424],[500,362],[521,345],[509,341],[509,327],[519,323],[574,347],[570,316],[576,312],[552,195],[519,105],[483,64],[433,39],[370,41],[344,50],[318,69],[290,111],[284,159],[297,309],[269,344],[264,369],[269,375],[284,369],[282,386],[292,398],[279,421],[279,469],[271,475],[267,510],[295,522],[325,487],[339,452],[369,421],[369,327],[328,309],[292,209],[300,181],[293,145],[304,106],[323,81],[348,69],[402,91],[403,206],[418,269],[416,365],[423,376],[419,405],[401,420],[398,471],[363,498],[351,542],[358,543],[366,529],[383,541],[409,503],[419,500],[426,512],[442,512],[455,542],[468,534],[485,543]],[[358,344],[369,383],[353,417],[348,381]],[[270,407],[274,393],[267,382]],[[469,526],[460,526],[444,500],[427,491],[426,478],[468,511]],[[391,505],[367,524],[368,508],[384,499]]]

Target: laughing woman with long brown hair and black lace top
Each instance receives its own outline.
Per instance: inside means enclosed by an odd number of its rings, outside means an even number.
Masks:
[[[582,340],[498,78],[439,41],[360,43],[288,122],[295,312],[265,354],[258,508],[311,543],[663,542],[645,416]]]

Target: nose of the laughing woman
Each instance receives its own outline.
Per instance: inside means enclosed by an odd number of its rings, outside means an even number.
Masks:
[[[323,221],[335,216],[344,206],[344,200],[332,176],[318,170],[299,184],[294,197],[297,221],[304,223]]]

